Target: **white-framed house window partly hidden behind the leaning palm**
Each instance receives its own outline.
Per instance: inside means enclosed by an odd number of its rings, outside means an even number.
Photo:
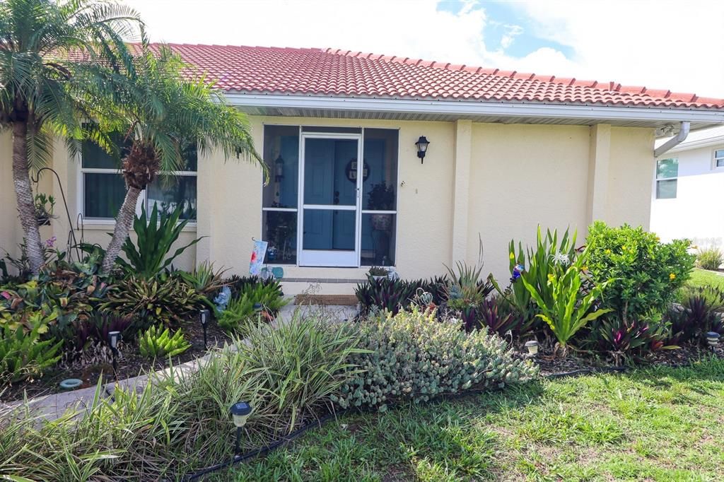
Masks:
[[[127,148],[119,143],[122,155]],[[109,156],[90,141],[83,143],[81,151],[81,185],[83,190],[83,218],[90,220],[115,219],[126,195],[126,186],[120,172],[119,159]],[[182,171],[161,172],[140,195],[139,206],[150,211],[155,204],[160,211],[172,211],[182,206],[182,219],[196,219],[196,148],[184,151]]]

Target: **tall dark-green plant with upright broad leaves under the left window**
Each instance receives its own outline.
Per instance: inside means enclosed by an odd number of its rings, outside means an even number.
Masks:
[[[123,243],[122,250],[128,261],[117,258],[117,263],[124,271],[151,279],[170,266],[174,259],[187,248],[201,241],[200,237],[196,238],[175,250],[167,258],[167,253],[188,224],[188,219],[179,221],[182,211],[183,207],[178,206],[170,213],[161,211],[159,216],[159,210],[154,204],[151,216],[147,218],[146,208],[141,206],[140,216],[135,216],[133,221],[133,230],[138,236],[138,240],[134,244],[130,238],[127,238]]]

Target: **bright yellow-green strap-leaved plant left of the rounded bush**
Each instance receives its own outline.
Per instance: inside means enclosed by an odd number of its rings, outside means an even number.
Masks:
[[[547,264],[545,271],[547,281],[543,286],[533,284],[521,276],[521,282],[531,295],[531,299],[538,305],[541,313],[536,316],[550,326],[551,331],[557,339],[556,350],[565,358],[568,354],[568,341],[583,328],[589,321],[599,318],[610,310],[596,309],[595,304],[602,297],[605,287],[610,281],[601,283],[589,283],[584,287],[584,266],[588,258],[588,248],[571,260],[566,266],[565,263]],[[533,263],[535,266],[535,263]],[[544,270],[536,270],[540,274]],[[554,352],[554,354],[555,354]]]

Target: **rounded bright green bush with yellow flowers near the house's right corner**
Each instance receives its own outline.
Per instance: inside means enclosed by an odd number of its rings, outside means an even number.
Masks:
[[[688,240],[660,242],[654,233],[624,224],[608,227],[596,221],[586,238],[588,269],[595,282],[613,280],[603,308],[622,320],[642,320],[664,313],[694,268]]]

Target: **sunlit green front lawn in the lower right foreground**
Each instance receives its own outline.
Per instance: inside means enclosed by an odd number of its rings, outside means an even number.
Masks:
[[[218,480],[714,481],[722,441],[709,360],[348,415]]]

